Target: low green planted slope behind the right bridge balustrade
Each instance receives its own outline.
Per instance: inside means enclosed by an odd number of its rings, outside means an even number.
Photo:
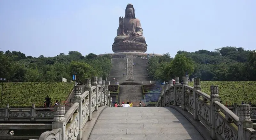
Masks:
[[[193,87],[194,82],[188,82],[189,86]],[[256,104],[254,100],[256,97],[256,81],[201,81],[201,90],[206,94],[211,94],[210,86],[217,85],[219,87],[219,96],[222,104],[229,105],[238,103],[241,104],[242,101]]]

